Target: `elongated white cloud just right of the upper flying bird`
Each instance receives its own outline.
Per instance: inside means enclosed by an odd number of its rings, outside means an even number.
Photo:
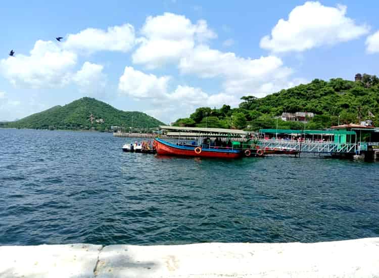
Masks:
[[[102,29],[87,28],[69,34],[63,47],[69,50],[93,53],[97,51],[129,51],[135,43],[134,27],[130,24]]]

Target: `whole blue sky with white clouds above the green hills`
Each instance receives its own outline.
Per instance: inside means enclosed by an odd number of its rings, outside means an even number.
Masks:
[[[4,2],[0,121],[87,96],[170,123],[315,78],[378,74],[378,9],[375,1]]]

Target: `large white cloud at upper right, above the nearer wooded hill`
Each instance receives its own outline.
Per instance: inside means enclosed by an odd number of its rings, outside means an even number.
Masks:
[[[369,31],[346,17],[347,7],[326,7],[319,2],[306,2],[295,7],[288,20],[280,19],[271,35],[261,39],[260,47],[272,52],[301,52],[321,45],[333,45],[356,39]]]

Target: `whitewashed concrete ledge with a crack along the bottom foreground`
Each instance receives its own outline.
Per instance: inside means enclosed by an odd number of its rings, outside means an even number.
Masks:
[[[0,247],[0,277],[379,277],[379,238]]]

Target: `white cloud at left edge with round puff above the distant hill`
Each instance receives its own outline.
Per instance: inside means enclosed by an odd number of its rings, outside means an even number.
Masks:
[[[85,62],[74,72],[77,55],[52,41],[37,40],[30,55],[19,54],[0,61],[0,73],[15,86],[32,89],[76,84],[79,91],[97,96],[104,92],[107,77],[103,66]]]

